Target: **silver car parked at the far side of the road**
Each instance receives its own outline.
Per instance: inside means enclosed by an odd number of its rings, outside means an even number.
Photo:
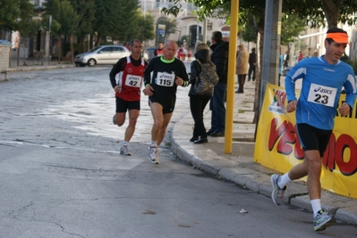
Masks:
[[[120,58],[130,55],[130,51],[123,45],[100,45],[86,53],[79,53],[74,57],[77,66],[93,67],[96,64],[115,64]]]

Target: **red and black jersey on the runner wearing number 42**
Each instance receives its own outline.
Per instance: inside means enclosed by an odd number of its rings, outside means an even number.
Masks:
[[[140,58],[135,61],[131,56],[120,59],[109,74],[112,86],[119,86],[119,93],[115,93],[125,101],[140,100],[140,87],[147,62]]]

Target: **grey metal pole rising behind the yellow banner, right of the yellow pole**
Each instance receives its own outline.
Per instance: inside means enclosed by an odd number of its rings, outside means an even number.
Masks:
[[[264,25],[263,65],[261,70],[259,111],[268,83],[276,85],[278,79],[278,50],[281,35],[282,0],[267,0]]]

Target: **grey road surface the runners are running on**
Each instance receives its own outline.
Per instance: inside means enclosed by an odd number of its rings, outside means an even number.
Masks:
[[[160,164],[147,159],[144,96],[132,156],[121,156],[125,127],[112,125],[109,70],[14,72],[0,82],[0,237],[357,236],[342,222],[314,233],[311,213],[179,160],[167,143],[190,113],[187,88],[178,90]]]

